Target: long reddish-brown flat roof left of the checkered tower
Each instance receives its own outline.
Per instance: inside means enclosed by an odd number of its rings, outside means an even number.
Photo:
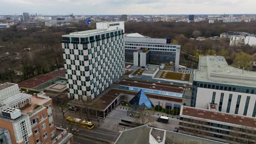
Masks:
[[[19,87],[34,88],[57,77],[65,77],[65,69],[54,70],[47,74],[38,75],[18,83]]]

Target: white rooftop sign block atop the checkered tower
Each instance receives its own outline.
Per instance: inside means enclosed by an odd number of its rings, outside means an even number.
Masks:
[[[97,22],[96,28],[97,29],[108,29],[108,30],[123,29],[123,31],[125,32],[124,21]]]

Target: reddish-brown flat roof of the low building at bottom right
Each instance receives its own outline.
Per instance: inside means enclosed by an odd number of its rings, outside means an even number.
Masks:
[[[189,107],[189,106],[182,106],[181,116],[190,116],[195,118],[207,119],[211,121],[230,123],[230,124],[242,125],[245,127],[256,128],[256,118],[254,117],[247,117],[247,116],[235,115],[231,113],[199,109],[199,108]]]

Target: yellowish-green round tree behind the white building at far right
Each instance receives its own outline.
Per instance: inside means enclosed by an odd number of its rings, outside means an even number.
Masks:
[[[245,68],[249,70],[251,68],[251,63],[253,61],[253,56],[245,53],[245,52],[238,52],[236,53],[235,59],[233,64],[236,68]]]

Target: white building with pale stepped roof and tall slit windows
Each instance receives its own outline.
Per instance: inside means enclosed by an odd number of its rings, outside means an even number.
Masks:
[[[229,66],[224,57],[200,56],[195,70],[191,106],[256,116],[256,73]]]

